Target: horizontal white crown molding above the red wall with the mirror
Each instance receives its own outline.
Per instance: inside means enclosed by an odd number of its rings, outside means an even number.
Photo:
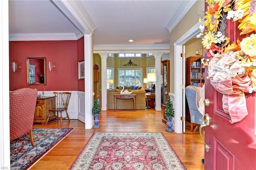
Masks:
[[[60,40],[78,40],[78,37],[74,33],[9,34],[9,41],[60,41]]]

